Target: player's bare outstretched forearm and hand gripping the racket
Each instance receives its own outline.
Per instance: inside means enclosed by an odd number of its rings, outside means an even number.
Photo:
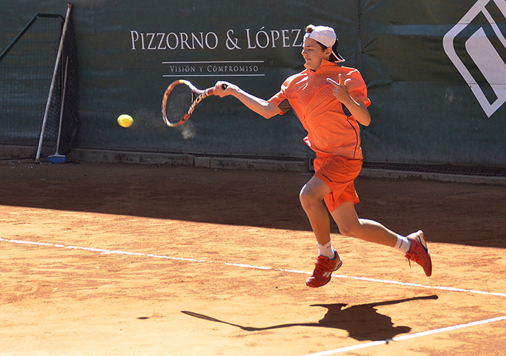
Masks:
[[[226,85],[225,89],[223,89],[223,84]],[[214,87],[214,95],[218,95],[221,98],[229,95],[238,98],[241,103],[246,105],[246,107],[255,111],[255,113],[258,113],[264,118],[272,118],[279,113],[283,113],[283,111],[273,103],[257,98],[250,93],[246,93],[246,91],[243,91],[243,89],[238,86],[224,81],[218,81],[218,83],[216,83],[216,86]]]

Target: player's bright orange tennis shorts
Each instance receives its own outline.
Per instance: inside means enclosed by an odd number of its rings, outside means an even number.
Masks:
[[[353,181],[362,169],[362,159],[341,156],[324,156],[318,153],[314,161],[315,177],[323,180],[332,193],[325,196],[325,204],[332,213],[341,203],[358,203],[357,191]]]

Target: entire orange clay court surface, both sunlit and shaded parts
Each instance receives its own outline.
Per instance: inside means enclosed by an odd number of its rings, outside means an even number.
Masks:
[[[359,178],[360,217],[422,229],[431,278],[338,235],[309,173],[0,163],[0,355],[504,355],[504,185]]]

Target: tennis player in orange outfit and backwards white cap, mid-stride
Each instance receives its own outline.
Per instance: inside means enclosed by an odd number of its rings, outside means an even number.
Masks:
[[[304,141],[316,153],[315,175],[300,190],[300,203],[318,241],[315,269],[305,281],[308,287],[327,284],[343,265],[330,240],[328,211],[341,234],[400,250],[430,276],[432,262],[421,230],[398,235],[373,220],[359,219],[355,211],[359,199],[353,182],[363,162],[358,124],[369,125],[370,100],[358,70],[339,64],[345,60],[337,49],[334,29],[310,25],[303,41],[305,70],[287,78],[275,96],[265,101],[224,81],[216,83],[215,95],[234,96],[265,118],[283,115],[291,107],[308,131]]]

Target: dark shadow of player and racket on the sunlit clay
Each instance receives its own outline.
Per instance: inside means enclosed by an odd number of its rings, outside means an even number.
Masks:
[[[326,307],[328,312],[323,319],[318,322],[294,322],[291,324],[272,325],[268,327],[249,327],[243,325],[233,324],[218,320],[214,317],[198,314],[196,312],[182,311],[186,315],[192,317],[199,317],[204,320],[212,322],[221,322],[223,324],[239,327],[246,331],[263,331],[280,329],[283,327],[294,326],[307,326],[307,327],[330,327],[334,329],[341,329],[348,331],[348,335],[358,341],[380,341],[390,340],[396,335],[405,334],[411,331],[408,326],[393,326],[392,318],[388,315],[383,315],[376,310],[376,307],[381,305],[395,305],[403,302],[411,302],[413,300],[435,300],[437,295],[428,295],[425,297],[413,297],[400,300],[390,300],[386,302],[375,302],[370,304],[352,305],[347,307],[347,304],[315,304],[312,307]]]

